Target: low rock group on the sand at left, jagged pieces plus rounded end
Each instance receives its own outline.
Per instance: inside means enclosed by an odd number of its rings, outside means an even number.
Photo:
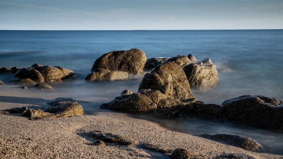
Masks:
[[[42,111],[41,109],[29,109],[27,107],[16,107],[12,109],[1,110],[0,114],[20,114],[29,117],[30,120],[41,119],[43,117],[71,117],[83,115],[83,107],[71,98],[57,98],[51,102],[52,107]]]

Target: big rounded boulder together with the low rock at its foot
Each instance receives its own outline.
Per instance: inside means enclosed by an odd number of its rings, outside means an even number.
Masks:
[[[126,80],[143,71],[147,57],[140,49],[108,52],[94,62],[86,81]]]

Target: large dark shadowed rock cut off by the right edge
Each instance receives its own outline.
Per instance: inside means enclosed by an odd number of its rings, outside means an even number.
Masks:
[[[228,117],[244,124],[283,130],[283,102],[261,95],[243,95],[224,101]]]

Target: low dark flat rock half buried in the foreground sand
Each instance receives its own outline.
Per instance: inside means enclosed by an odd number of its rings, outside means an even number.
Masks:
[[[127,140],[120,135],[114,135],[111,133],[103,133],[101,131],[93,131],[89,133],[89,137],[101,140],[107,143],[117,143],[119,145],[134,145],[133,141]]]

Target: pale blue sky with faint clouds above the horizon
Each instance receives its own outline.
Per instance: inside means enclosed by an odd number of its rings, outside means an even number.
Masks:
[[[283,29],[283,0],[0,0],[0,30]]]

